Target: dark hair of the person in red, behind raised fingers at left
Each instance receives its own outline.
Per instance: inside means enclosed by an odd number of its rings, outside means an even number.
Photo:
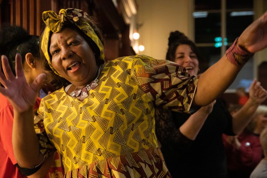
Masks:
[[[0,54],[8,57],[8,63],[14,75],[16,54],[19,53],[21,55],[23,64],[27,53],[31,53],[34,58],[40,59],[39,43],[38,36],[29,35],[20,26],[1,25]],[[1,68],[1,70],[3,69]]]

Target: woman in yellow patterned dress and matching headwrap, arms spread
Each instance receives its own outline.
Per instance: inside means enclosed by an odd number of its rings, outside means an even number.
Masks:
[[[154,108],[192,113],[212,102],[253,53],[267,46],[266,33],[259,33],[267,29],[266,16],[198,78],[176,63],[144,55],[102,65],[101,35],[85,12],[44,12],[43,63],[58,75],[53,80],[59,89],[42,99],[35,116],[32,106],[45,75],[28,85],[21,57],[17,55],[14,76],[2,56],[0,92],[14,107],[18,164],[40,166],[57,149],[66,177],[171,177],[157,145]]]

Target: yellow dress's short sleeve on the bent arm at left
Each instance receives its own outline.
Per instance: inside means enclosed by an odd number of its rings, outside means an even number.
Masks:
[[[50,142],[47,133],[44,129],[44,122],[43,122],[43,104],[42,101],[40,103],[40,107],[35,110],[35,117],[34,117],[34,129],[37,134],[39,144],[40,144],[40,152],[48,158],[52,153],[56,151],[54,145]]]

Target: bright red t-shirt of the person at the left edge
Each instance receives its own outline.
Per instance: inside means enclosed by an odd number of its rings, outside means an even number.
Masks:
[[[37,98],[34,109],[40,105],[41,98]],[[13,107],[6,97],[0,94],[0,177],[25,178],[15,166],[15,160],[12,146],[12,128],[13,128]],[[54,163],[47,173],[47,177],[53,175],[64,175],[61,167],[60,154],[56,153]]]

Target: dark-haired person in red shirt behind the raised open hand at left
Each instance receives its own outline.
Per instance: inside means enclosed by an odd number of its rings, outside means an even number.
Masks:
[[[28,83],[42,73],[38,36],[29,35],[22,27],[3,25],[0,29],[0,54],[8,56],[11,70],[15,73],[15,55],[20,53],[23,59],[23,68]],[[3,71],[1,65],[1,70]],[[5,71],[4,71],[5,72]],[[60,155],[56,153],[45,161],[42,166],[34,169],[19,169],[15,160],[12,146],[13,107],[6,97],[0,94],[0,177],[63,177]],[[38,97],[34,108],[38,108],[41,98]],[[55,164],[56,163],[56,164]],[[54,167],[50,167],[54,164]],[[55,176],[54,176],[55,177]]]

